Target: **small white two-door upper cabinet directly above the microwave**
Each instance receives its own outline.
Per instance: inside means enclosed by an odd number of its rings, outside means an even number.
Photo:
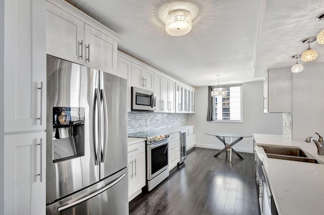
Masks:
[[[153,91],[153,72],[132,62],[132,86]]]

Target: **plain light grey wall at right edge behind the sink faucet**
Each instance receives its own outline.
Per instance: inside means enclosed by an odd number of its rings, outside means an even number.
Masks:
[[[293,74],[293,139],[324,136],[324,63],[305,64]]]

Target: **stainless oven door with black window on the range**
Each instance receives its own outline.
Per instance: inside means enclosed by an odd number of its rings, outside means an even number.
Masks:
[[[169,140],[147,145],[147,180],[165,171],[169,167]]]

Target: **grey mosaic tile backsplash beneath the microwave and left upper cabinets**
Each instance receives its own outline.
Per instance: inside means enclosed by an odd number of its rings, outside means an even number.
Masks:
[[[188,125],[188,114],[129,112],[128,133]]]

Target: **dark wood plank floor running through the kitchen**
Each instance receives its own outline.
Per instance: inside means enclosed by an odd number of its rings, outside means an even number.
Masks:
[[[129,203],[130,214],[260,214],[254,154],[245,159],[195,148],[184,165],[151,193]]]

